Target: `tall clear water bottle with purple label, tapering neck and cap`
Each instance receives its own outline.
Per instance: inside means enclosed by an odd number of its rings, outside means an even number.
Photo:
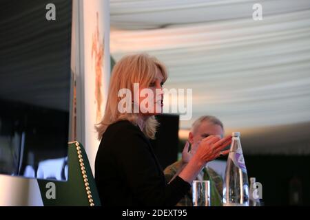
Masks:
[[[223,206],[249,206],[249,182],[240,143],[240,132],[232,133],[225,170]]]

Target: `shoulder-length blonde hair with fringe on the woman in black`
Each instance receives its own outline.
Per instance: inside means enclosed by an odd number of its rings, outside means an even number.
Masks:
[[[109,92],[107,94],[107,104],[105,105],[105,115],[95,128],[98,132],[99,140],[107,129],[107,126],[120,120],[129,120],[137,124],[138,113],[121,113],[118,111],[118,97],[120,89],[130,89],[134,91],[134,83],[139,83],[142,87],[149,87],[149,83],[156,77],[156,69],[163,74],[163,81],[167,80],[167,69],[163,63],[158,61],[154,56],[148,54],[127,55],[121,58],[113,67],[110,80]],[[150,116],[145,122],[143,133],[150,139],[155,138],[156,127],[158,122],[154,115]]]

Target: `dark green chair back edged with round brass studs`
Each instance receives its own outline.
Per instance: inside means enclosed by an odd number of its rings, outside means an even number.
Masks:
[[[38,179],[44,206],[101,206],[90,162],[79,142],[68,143],[68,181]],[[56,197],[48,199],[48,183],[54,183]],[[48,184],[48,185],[47,185]]]

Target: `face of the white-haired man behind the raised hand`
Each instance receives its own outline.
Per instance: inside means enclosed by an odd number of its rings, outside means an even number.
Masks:
[[[223,129],[218,124],[213,124],[212,122],[202,122],[200,126],[194,131],[194,133],[189,133],[189,143],[192,144],[192,146],[196,145],[200,140],[203,140],[203,138],[209,136],[209,135],[218,135],[220,137],[223,137]]]

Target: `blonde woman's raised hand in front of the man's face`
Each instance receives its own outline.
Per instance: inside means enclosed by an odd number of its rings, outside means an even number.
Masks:
[[[204,166],[207,162],[216,159],[220,155],[227,155],[229,150],[222,150],[229,144],[231,144],[231,135],[223,139],[220,139],[218,136],[210,135],[201,140],[192,158],[200,166]]]

